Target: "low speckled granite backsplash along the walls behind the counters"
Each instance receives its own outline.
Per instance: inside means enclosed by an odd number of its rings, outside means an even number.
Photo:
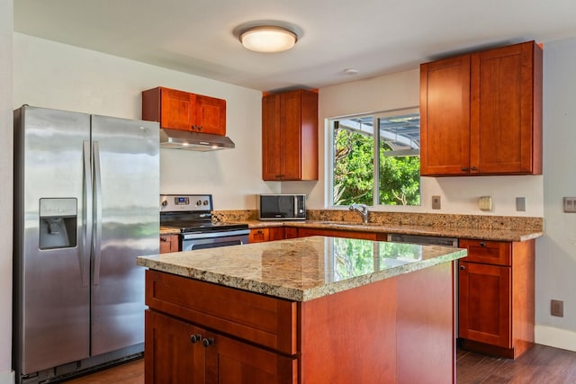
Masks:
[[[216,210],[216,221],[251,221],[258,219],[257,210]],[[306,218],[315,221],[361,222],[360,215],[350,210],[307,210]],[[478,228],[500,230],[544,231],[543,218],[516,216],[448,215],[437,213],[406,213],[371,211],[369,223],[445,228]]]

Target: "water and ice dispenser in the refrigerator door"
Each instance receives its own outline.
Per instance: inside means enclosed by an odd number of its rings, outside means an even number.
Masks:
[[[75,198],[40,199],[40,249],[76,246],[76,207]]]

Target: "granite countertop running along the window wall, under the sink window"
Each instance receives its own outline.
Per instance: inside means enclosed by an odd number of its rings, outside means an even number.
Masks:
[[[454,226],[415,226],[402,224],[378,224],[378,223],[357,223],[346,221],[322,221],[322,220],[302,220],[302,221],[260,221],[250,220],[247,222],[248,228],[266,227],[295,227],[295,228],[319,228],[338,229],[358,232],[381,232],[405,235],[423,235],[437,237],[457,237],[477,240],[493,241],[527,241],[544,236],[544,232],[537,230],[511,230],[511,229],[489,229],[489,228],[464,228]]]

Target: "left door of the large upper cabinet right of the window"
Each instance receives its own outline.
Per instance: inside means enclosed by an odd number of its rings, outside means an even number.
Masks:
[[[420,66],[420,174],[470,172],[470,56]]]

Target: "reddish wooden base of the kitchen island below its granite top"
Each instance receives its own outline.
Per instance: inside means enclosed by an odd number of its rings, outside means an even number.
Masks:
[[[455,383],[452,263],[308,301],[146,272],[146,384]]]

